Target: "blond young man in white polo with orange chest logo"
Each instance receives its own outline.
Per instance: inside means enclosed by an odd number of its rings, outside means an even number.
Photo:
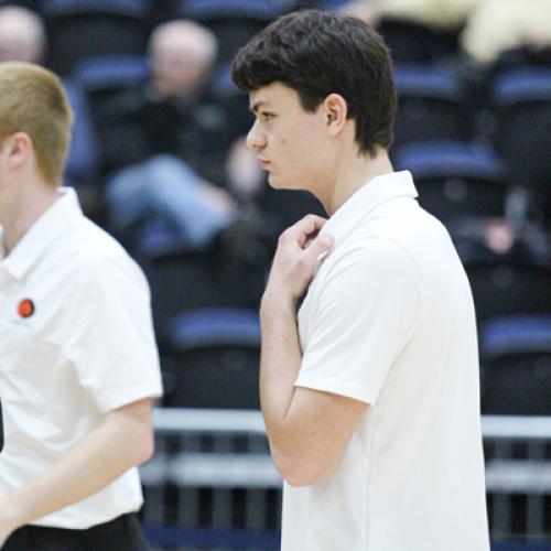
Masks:
[[[72,118],[52,73],[0,64],[0,548],[136,551],[161,395],[149,289],[58,187]]]

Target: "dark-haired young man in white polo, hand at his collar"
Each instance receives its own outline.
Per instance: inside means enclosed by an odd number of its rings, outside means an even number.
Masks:
[[[385,43],[356,19],[293,13],[237,54],[233,78],[271,186],[329,214],[282,234],[261,304],[282,549],[487,551],[473,299],[389,162]]]

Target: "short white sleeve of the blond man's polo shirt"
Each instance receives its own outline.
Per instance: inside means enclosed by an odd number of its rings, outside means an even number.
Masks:
[[[101,412],[162,395],[149,285],[126,257],[97,261],[80,281],[64,356]]]

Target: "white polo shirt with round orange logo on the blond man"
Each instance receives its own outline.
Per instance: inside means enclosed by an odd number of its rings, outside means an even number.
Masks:
[[[145,278],[75,192],[61,193],[8,257],[0,250],[0,495],[60,462],[106,412],[161,395]],[[33,523],[88,528],[142,501],[131,468]]]

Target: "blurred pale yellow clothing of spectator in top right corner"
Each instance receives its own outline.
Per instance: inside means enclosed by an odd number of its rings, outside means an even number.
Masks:
[[[462,33],[464,50],[478,63],[491,64],[508,51],[551,47],[549,0],[484,0]]]

